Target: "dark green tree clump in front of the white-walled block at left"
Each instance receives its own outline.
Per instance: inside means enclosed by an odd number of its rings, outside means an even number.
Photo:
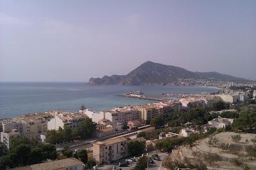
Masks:
[[[70,141],[73,138],[90,138],[95,132],[96,124],[92,122],[91,118],[86,117],[81,125],[79,125],[74,131],[70,127],[65,126],[64,129],[59,129],[59,131],[51,130],[47,131],[45,141],[47,143],[60,143],[63,141]]]

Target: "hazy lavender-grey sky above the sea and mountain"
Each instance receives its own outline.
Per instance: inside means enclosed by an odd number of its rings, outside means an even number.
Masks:
[[[147,60],[256,80],[256,1],[0,1],[0,81],[88,81]]]

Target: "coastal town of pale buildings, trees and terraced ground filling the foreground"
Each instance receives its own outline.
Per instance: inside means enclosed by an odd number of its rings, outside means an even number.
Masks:
[[[255,169],[255,98],[255,86],[230,83],[179,101],[4,119],[0,169]]]

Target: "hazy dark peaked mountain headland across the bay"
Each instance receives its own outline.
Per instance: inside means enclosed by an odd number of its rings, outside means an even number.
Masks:
[[[147,61],[127,75],[90,78],[90,85],[166,85],[184,79],[249,81],[217,72],[193,72],[176,66]]]

